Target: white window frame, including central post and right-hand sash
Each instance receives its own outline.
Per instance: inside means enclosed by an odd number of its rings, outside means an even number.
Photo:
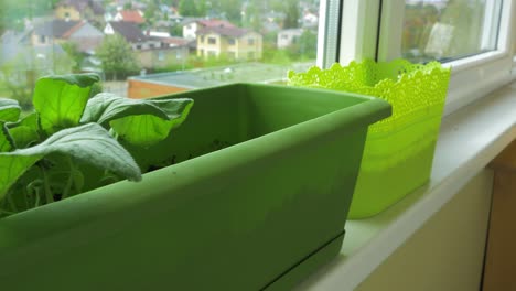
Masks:
[[[321,12],[327,12],[332,1],[321,1]],[[486,13],[493,15],[494,9],[496,8],[487,8]],[[336,60],[341,64],[347,65],[353,60],[388,61],[400,57],[405,0],[346,0],[340,10],[342,21],[338,23],[341,36]],[[331,20],[325,19],[326,17],[327,14],[323,14],[321,18],[319,30],[318,65],[322,67],[332,63],[327,53],[325,54],[330,48],[327,37],[332,37],[327,33],[327,21]],[[452,67],[444,115],[515,79],[515,25],[516,3],[514,0],[503,0],[497,48],[443,64]],[[486,39],[485,42],[487,41]]]

